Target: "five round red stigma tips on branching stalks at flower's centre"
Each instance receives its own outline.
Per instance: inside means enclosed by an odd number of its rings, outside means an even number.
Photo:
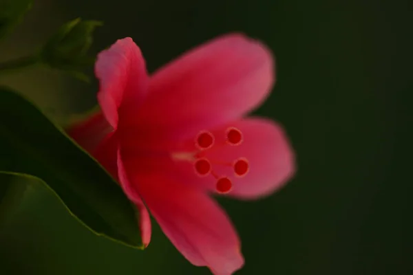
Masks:
[[[214,144],[215,137],[209,131],[201,131],[195,137],[195,147],[198,151],[194,153],[174,153],[173,159],[178,161],[192,162],[196,175],[206,177],[211,175],[215,178],[215,188],[218,192],[224,194],[231,191],[233,181],[226,175],[218,175],[213,170],[213,166],[228,166],[231,167],[235,177],[243,177],[248,173],[249,163],[245,157],[240,157],[235,160],[208,159],[204,157],[208,151],[216,150],[224,146],[238,146],[242,144],[242,132],[235,127],[229,127],[225,131],[225,142],[223,144]],[[215,146],[214,146],[215,145]]]

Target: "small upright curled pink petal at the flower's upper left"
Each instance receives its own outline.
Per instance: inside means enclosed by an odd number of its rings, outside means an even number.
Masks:
[[[122,105],[122,111],[128,113],[147,94],[149,76],[145,60],[131,38],[119,39],[98,54],[95,74],[100,81],[98,102],[107,121],[116,129],[119,107]]]

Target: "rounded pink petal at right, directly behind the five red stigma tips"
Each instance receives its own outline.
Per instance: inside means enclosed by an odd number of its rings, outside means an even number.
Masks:
[[[239,146],[227,145],[225,142],[226,129],[231,126],[242,131],[243,142]],[[215,136],[215,145],[204,151],[202,156],[209,159],[217,175],[229,177],[233,181],[229,196],[256,199],[271,195],[295,173],[293,149],[282,127],[272,120],[246,118],[220,126],[211,133]],[[243,177],[236,177],[231,164],[240,157],[248,159],[249,170]],[[212,176],[199,177],[191,162],[180,161],[174,165],[181,181],[215,190],[216,179]]]

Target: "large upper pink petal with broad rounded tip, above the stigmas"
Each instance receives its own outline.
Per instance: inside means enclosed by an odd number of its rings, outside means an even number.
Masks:
[[[153,74],[145,104],[125,123],[138,125],[149,141],[182,139],[260,105],[274,74],[273,56],[262,43],[242,34],[221,36]]]

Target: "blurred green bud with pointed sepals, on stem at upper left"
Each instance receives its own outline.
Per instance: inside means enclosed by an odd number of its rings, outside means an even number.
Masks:
[[[92,33],[100,25],[103,25],[100,21],[81,19],[65,23],[41,50],[41,60],[50,67],[84,78],[85,75],[79,70],[94,63],[94,58],[87,56],[87,51],[92,45]]]

